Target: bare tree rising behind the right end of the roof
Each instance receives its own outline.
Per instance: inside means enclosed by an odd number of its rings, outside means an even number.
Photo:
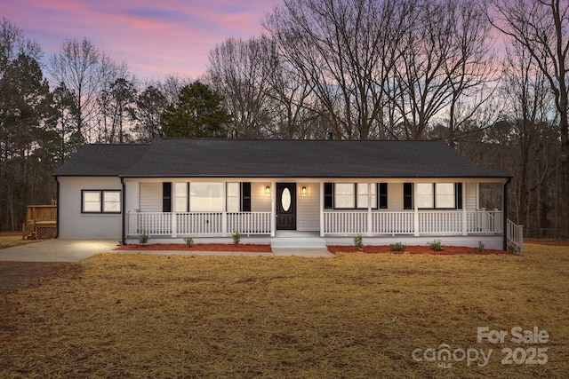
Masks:
[[[453,145],[460,123],[471,120],[490,99],[490,26],[482,4],[474,0],[424,0],[415,5],[389,87],[395,116],[401,121],[399,134],[425,138],[429,122],[447,111]],[[464,104],[469,109],[459,119],[458,108]]]

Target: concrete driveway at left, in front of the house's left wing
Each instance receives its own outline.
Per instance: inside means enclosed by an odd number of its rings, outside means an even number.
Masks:
[[[0,249],[0,261],[78,262],[116,248],[115,240],[48,240]],[[116,251],[115,251],[116,252]]]

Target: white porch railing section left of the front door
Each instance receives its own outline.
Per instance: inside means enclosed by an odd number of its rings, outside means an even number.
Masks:
[[[129,212],[128,235],[218,236],[235,231],[270,234],[271,212]]]

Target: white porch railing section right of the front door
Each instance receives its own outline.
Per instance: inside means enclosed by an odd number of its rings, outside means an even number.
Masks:
[[[420,210],[373,211],[371,231],[368,231],[367,211],[326,211],[324,234],[369,233],[397,234],[501,234],[501,210]]]

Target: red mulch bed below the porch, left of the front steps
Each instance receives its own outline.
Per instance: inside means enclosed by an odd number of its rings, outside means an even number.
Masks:
[[[195,243],[191,248],[181,243],[151,243],[146,245],[124,245],[119,246],[116,250],[180,250],[180,251],[238,251],[251,253],[270,253],[270,245],[261,245],[253,243]]]

